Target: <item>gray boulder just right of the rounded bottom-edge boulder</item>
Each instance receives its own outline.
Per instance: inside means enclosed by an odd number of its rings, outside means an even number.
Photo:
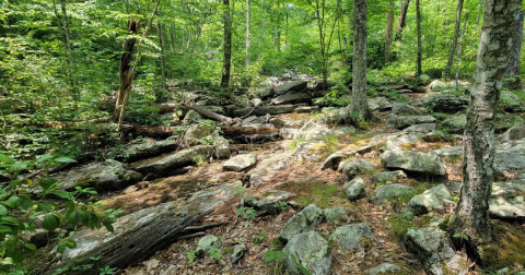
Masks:
[[[352,250],[359,248],[364,250],[361,246],[361,239],[368,238],[374,240],[375,237],[370,229],[370,226],[366,224],[350,224],[346,226],[338,227],[331,235],[330,241],[348,249]]]

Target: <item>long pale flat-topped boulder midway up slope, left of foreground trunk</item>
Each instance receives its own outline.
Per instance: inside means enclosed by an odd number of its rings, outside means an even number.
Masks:
[[[441,157],[421,152],[386,151],[381,154],[381,162],[388,169],[402,169],[405,171],[428,175],[445,176],[446,165]]]

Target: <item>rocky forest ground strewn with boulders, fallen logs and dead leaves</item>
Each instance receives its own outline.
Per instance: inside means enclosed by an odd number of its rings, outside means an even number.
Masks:
[[[516,243],[525,237],[525,128],[509,122],[521,116],[520,98],[502,95],[511,99],[500,108],[490,203],[501,238],[485,248],[480,268],[453,247],[462,237],[443,231],[462,184],[468,96],[439,81],[381,87],[369,100],[375,119],[358,130],[347,107],[311,106],[325,91],[296,75],[241,98],[245,107],[191,94],[237,123],[189,110],[187,125],[166,140],[140,139],[110,159],[55,175],[63,189],[95,188],[125,215],[115,234],[78,231],[78,247],[44,273],[91,255],[136,275],[524,268]]]

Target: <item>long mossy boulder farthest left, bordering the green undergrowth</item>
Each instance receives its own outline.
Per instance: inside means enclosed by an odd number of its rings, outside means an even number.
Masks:
[[[142,180],[142,175],[129,170],[117,160],[106,159],[52,176],[59,189],[72,190],[75,187],[94,188],[98,192],[122,190]]]

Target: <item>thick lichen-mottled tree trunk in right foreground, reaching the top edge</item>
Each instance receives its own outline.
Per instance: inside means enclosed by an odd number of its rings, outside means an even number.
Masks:
[[[467,248],[491,240],[489,199],[493,181],[494,118],[509,63],[521,0],[486,0],[471,104],[463,141],[463,187],[451,230],[468,236]]]

